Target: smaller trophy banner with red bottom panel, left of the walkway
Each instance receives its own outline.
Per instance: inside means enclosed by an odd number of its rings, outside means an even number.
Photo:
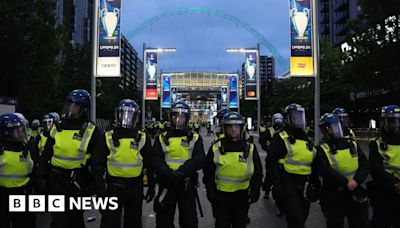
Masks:
[[[155,51],[146,51],[145,53],[145,72],[146,79],[145,82],[145,99],[146,100],[157,100],[158,99],[158,91],[157,91],[157,52]]]

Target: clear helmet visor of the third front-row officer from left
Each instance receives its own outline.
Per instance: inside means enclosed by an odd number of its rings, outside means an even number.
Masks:
[[[117,127],[135,128],[139,120],[139,110],[134,107],[118,107],[115,109]]]

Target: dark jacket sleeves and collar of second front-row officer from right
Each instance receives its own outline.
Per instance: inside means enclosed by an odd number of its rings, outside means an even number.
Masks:
[[[334,143],[328,143],[328,145],[333,144],[337,150],[343,150],[350,147],[349,143],[351,143],[350,140],[344,139]],[[358,183],[358,185],[360,185],[367,179],[369,170],[368,159],[358,143],[357,154],[358,169],[354,175],[354,180]],[[321,146],[317,147],[317,159],[318,172],[323,178],[323,187],[347,187],[347,178],[331,167],[329,160]]]

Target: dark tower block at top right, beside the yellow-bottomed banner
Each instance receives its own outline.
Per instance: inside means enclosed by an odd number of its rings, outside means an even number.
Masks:
[[[319,33],[332,46],[342,44],[349,31],[347,22],[361,12],[358,0],[319,0]]]

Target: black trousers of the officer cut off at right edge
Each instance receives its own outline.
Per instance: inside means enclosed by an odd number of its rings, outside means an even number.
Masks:
[[[394,190],[376,189],[371,197],[372,227],[400,228],[400,194]]]

